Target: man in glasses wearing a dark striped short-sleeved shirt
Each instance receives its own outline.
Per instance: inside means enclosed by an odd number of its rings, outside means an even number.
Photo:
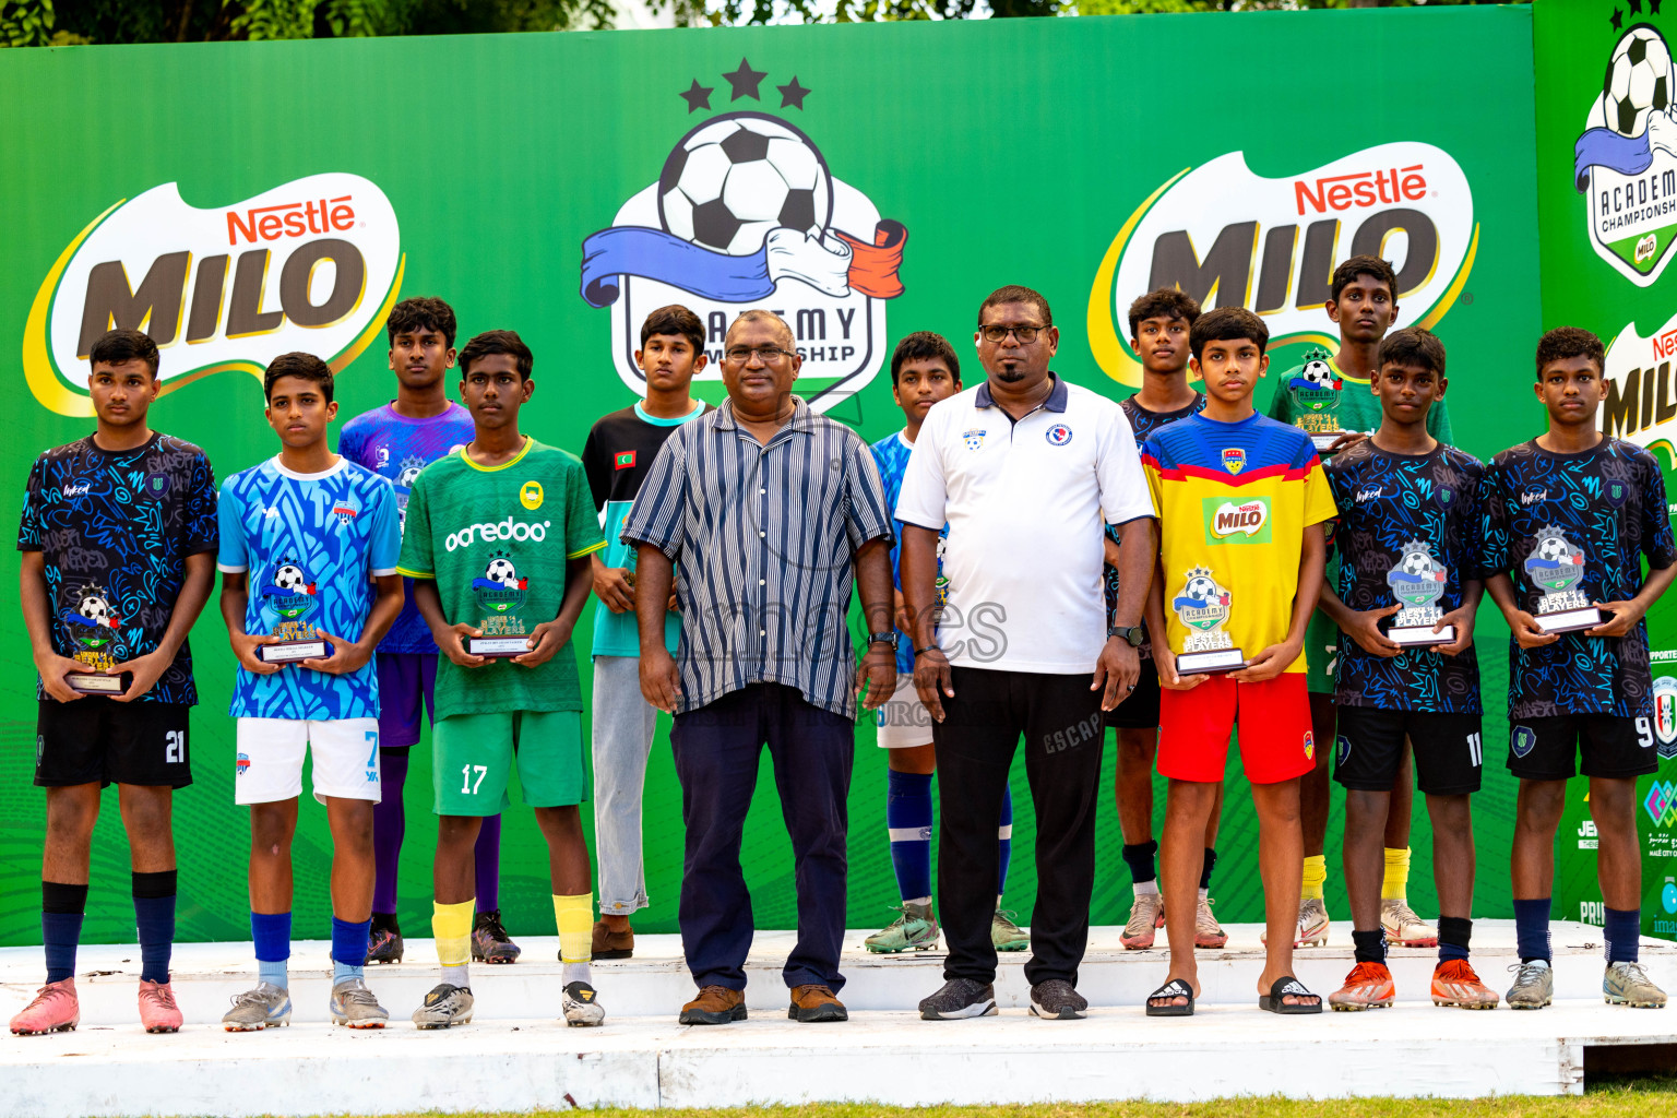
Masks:
[[[683,1024],[745,1019],[751,895],[740,836],[758,758],[775,763],[797,860],[798,944],[783,977],[797,1021],[844,1021],[845,800],[857,696],[896,686],[890,510],[867,443],[792,394],[803,359],[775,313],[723,342],[728,401],[678,427],[641,483],[622,540],[637,551],[641,691],[674,716],[686,862],[681,942],[699,996]],[[845,612],[869,624],[855,664]],[[674,583],[676,655],[664,647]]]

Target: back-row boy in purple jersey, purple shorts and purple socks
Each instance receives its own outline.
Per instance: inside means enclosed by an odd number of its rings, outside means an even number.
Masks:
[[[337,451],[357,466],[391,479],[406,523],[408,493],[419,471],[471,441],[471,414],[448,399],[446,374],[454,367],[454,310],[441,298],[404,298],[386,323],[396,399],[356,416]],[[384,800],[372,815],[376,862],[369,962],[401,962],[402,930],[396,920],[396,870],[402,851],[408,751],[419,744],[419,704],[434,711],[436,642],[414,607],[413,580],[404,585],[402,612],[379,642],[379,764]],[[513,962],[518,945],[501,927],[501,816],[483,820],[478,831],[478,917],[471,954],[483,962]]]

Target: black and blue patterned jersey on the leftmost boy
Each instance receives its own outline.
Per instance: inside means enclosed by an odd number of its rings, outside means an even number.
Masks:
[[[47,451],[29,471],[17,550],[42,553],[54,652],[96,670],[154,652],[186,556],[216,550],[210,459],[166,434],[131,451],[92,436]],[[186,642],[138,701],[198,702]]]

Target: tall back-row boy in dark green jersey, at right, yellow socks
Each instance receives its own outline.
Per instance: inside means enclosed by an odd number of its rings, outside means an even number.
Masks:
[[[1316,453],[1328,458],[1355,446],[1380,427],[1380,397],[1373,379],[1380,370],[1380,340],[1397,320],[1397,273],[1378,256],[1352,256],[1333,270],[1328,285],[1328,318],[1340,329],[1340,350],[1313,349],[1305,364],[1281,374],[1269,402],[1269,417],[1310,432]],[[1427,434],[1451,444],[1451,419],[1444,401],[1427,414]],[[1328,555],[1328,585],[1338,578],[1338,556]],[[1338,719],[1333,707],[1333,670],[1340,630],[1321,610],[1310,619],[1305,649],[1310,654],[1310,722],[1318,743],[1332,743]],[[1305,825],[1305,888],[1298,907],[1298,947],[1328,942],[1323,882],[1328,875],[1328,756],[1316,751],[1316,771],[1300,786]],[[1436,947],[1437,932],[1414,914],[1409,887],[1409,816],[1414,808],[1414,766],[1405,744],[1404,763],[1392,788],[1385,823],[1385,882],[1380,887],[1380,925],[1390,942]]]

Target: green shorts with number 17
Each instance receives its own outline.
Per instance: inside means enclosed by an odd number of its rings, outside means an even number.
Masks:
[[[569,808],[589,798],[577,711],[444,717],[431,727],[431,763],[438,815],[500,815],[511,806],[506,784],[515,763],[532,808]]]

